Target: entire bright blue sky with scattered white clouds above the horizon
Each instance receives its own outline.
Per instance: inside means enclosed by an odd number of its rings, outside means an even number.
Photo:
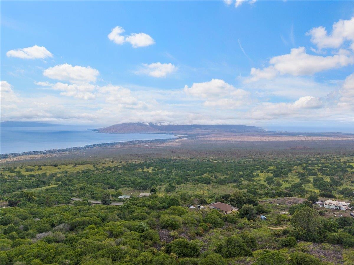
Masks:
[[[1,120],[353,131],[353,6],[1,1]]]

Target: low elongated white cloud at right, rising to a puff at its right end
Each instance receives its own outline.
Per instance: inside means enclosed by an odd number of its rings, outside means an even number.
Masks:
[[[290,103],[270,103],[265,102],[256,108],[253,108],[250,113],[252,119],[274,119],[279,116],[290,116],[294,114],[301,114],[306,110],[306,114],[309,115],[309,110],[320,108],[322,102],[319,98],[313,96],[303,96]]]

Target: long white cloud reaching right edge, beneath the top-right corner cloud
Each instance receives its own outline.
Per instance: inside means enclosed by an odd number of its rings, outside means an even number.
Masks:
[[[305,47],[293,48],[289,54],[272,57],[270,66],[263,69],[251,69],[251,77],[246,82],[255,82],[259,79],[272,79],[276,75],[289,74],[292,76],[313,75],[314,73],[335,69],[353,64],[353,55],[339,52],[333,56],[310,55]]]

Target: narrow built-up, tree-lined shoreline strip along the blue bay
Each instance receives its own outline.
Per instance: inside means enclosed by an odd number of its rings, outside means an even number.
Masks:
[[[55,154],[55,153],[90,149],[90,148],[95,148],[95,147],[109,147],[109,146],[115,146],[115,145],[129,146],[132,144],[139,144],[139,143],[166,142],[166,141],[171,141],[171,140],[175,140],[175,139],[187,138],[187,135],[183,135],[183,136],[176,135],[176,134],[170,134],[170,135],[177,136],[177,137],[167,138],[167,139],[132,140],[132,141],[121,141],[121,142],[109,142],[109,143],[95,143],[92,145],[76,146],[76,147],[69,147],[69,148],[59,148],[59,149],[49,149],[49,150],[44,150],[44,151],[6,153],[6,154],[0,154],[0,160],[6,159],[6,158],[21,157],[21,156],[25,156],[25,155]]]

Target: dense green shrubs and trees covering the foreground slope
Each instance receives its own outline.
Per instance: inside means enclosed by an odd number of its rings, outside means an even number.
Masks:
[[[345,264],[354,218],[313,203],[353,201],[353,165],[325,155],[5,164],[0,264]],[[207,206],[216,201],[239,211]]]

